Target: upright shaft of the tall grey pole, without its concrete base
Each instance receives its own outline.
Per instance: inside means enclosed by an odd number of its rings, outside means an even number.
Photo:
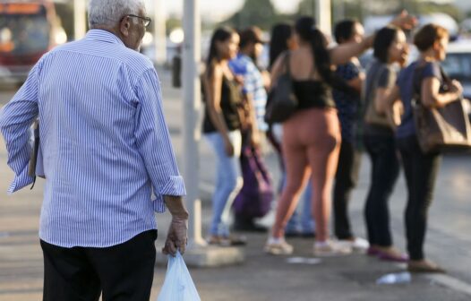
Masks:
[[[199,151],[201,131],[197,120],[201,107],[201,61],[200,0],[184,0],[183,44],[183,111],[184,111],[184,159],[183,175],[186,200],[190,212],[190,246],[205,245],[201,236],[201,200],[199,199]]]

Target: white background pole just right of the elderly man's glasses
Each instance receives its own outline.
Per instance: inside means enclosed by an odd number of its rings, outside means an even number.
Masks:
[[[167,17],[164,0],[154,0],[154,43],[155,58],[158,64],[167,61]]]

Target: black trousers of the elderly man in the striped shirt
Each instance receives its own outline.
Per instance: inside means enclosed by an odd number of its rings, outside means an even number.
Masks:
[[[40,241],[44,301],[149,301],[157,230],[106,248],[64,248]]]

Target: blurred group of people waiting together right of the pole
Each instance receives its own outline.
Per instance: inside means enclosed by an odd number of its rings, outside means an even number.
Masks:
[[[285,236],[314,236],[315,230],[313,253],[317,256],[364,249],[383,260],[407,262],[409,271],[443,271],[424,254],[427,211],[441,155],[420,149],[412,102],[418,97],[424,106],[445,106],[458,99],[462,87],[441,71],[449,34],[440,25],[416,29],[413,42],[420,56],[407,65],[405,32],[415,25],[415,18],[403,12],[365,37],[360,22],[340,21],[334,30],[337,44],[330,47],[330,40],[311,17],[298,19],[294,26],[277,24],[271,32],[268,71],[257,65],[263,43],[260,30],[239,33],[219,28],[214,32],[202,77],[204,133],[218,158],[210,244],[241,243],[240,237],[229,235],[223,212],[242,185],[238,159],[242,146],[257,147],[266,137],[280,156],[283,175],[265,252],[291,254],[294,248]],[[370,47],[373,61],[364,72],[358,56]],[[297,109],[281,125],[267,125],[263,115],[268,96],[276,92],[284,73],[291,77]],[[248,104],[248,113],[243,114],[248,116],[247,124],[240,117],[241,104]],[[361,163],[359,142],[372,161],[364,205],[367,240],[355,236],[348,216]],[[407,254],[393,245],[388,207],[401,166],[408,193]],[[297,212],[304,187],[304,205]],[[330,238],[332,204],[337,239]],[[235,225],[241,219],[236,217]]]

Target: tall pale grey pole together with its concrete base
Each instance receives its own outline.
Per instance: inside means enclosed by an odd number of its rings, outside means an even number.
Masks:
[[[201,17],[200,0],[184,0],[183,44],[183,149],[182,173],[186,186],[186,203],[190,213],[188,248],[184,261],[193,267],[216,267],[244,262],[244,248],[207,245],[201,236],[200,152],[201,128]],[[157,263],[167,262],[158,254]]]

